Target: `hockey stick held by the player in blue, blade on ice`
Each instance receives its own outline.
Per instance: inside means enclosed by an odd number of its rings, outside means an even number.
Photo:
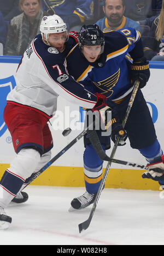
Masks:
[[[139,81],[136,80],[136,82],[134,83],[134,88],[133,88],[133,92],[132,92],[130,101],[129,101],[128,106],[127,106],[127,110],[126,110],[126,114],[125,114],[124,120],[122,121],[122,127],[123,127],[123,128],[125,127],[125,124],[126,124],[128,115],[129,115],[129,113],[130,113],[130,111],[131,111],[131,108],[132,108],[134,99],[135,99],[135,97],[136,97],[138,88],[139,88]],[[111,153],[111,155],[110,155],[110,158],[113,158],[113,157],[114,157],[115,152],[116,152],[116,149],[117,149],[117,147],[118,147],[118,144],[119,144],[119,136],[116,138],[116,141],[115,141],[115,144],[114,144],[112,153]],[[104,175],[103,175],[101,184],[100,184],[100,186],[99,186],[99,189],[98,189],[98,192],[97,192],[95,201],[94,201],[94,203],[93,203],[93,206],[92,206],[92,209],[91,209],[89,218],[88,218],[87,220],[85,220],[83,223],[80,223],[80,224],[79,224],[79,232],[80,232],[80,233],[81,233],[81,231],[86,230],[86,229],[89,227],[90,223],[91,223],[91,220],[92,220],[92,218],[93,218],[93,214],[95,213],[95,210],[96,210],[96,206],[97,206],[99,197],[100,197],[101,192],[102,192],[102,190],[103,190],[103,188],[104,188],[104,184],[105,184],[105,182],[106,182],[106,179],[107,179],[107,176],[108,176],[108,173],[109,173],[109,169],[110,169],[111,164],[112,164],[112,161],[109,161],[108,164],[107,164],[107,167],[106,167],[106,170],[105,170],[105,172],[104,172]]]

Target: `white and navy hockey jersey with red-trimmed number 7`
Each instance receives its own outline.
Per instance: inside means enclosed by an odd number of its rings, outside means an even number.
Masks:
[[[16,87],[8,94],[7,102],[32,107],[51,117],[58,95],[87,109],[92,109],[97,101],[94,94],[69,76],[65,54],[43,43],[38,35],[22,56]]]

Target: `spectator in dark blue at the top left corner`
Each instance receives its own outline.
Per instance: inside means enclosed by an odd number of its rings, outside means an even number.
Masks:
[[[5,21],[10,21],[15,16],[19,15],[19,0],[0,0],[0,10]]]

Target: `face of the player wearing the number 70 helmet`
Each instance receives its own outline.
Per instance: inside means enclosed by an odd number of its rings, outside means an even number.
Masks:
[[[98,56],[101,54],[101,45],[84,45],[82,48],[84,57],[89,62],[95,62]]]

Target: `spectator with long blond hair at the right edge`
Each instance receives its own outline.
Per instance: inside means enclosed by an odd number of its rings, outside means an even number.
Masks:
[[[144,55],[148,60],[164,61],[164,0],[160,15],[154,20],[144,41]]]

